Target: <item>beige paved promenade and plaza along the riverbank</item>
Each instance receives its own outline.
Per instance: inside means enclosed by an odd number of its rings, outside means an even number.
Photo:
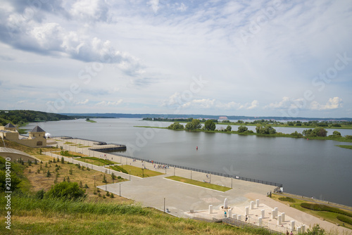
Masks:
[[[340,234],[342,232],[346,232],[346,234],[352,234],[351,230],[349,229],[337,227],[335,224],[319,220],[316,217],[310,216],[294,208],[289,208],[283,203],[279,203],[272,200],[271,198],[268,198],[266,196],[267,193],[274,191],[275,186],[246,182],[239,179],[230,179],[216,175],[207,176],[206,173],[191,172],[190,170],[183,170],[174,167],[168,169],[155,169],[152,163],[146,163],[140,160],[134,161],[131,158],[124,158],[108,153],[89,151],[87,147],[78,148],[77,146],[69,146],[68,144],[64,144],[65,141],[82,144],[83,146],[94,146],[92,141],[83,141],[80,139],[57,141],[58,146],[63,146],[63,149],[65,150],[113,160],[114,162],[122,163],[123,165],[146,167],[146,169],[149,170],[162,172],[163,175],[156,177],[134,177],[133,175],[130,176],[129,174],[122,172],[108,170],[103,166],[96,166],[87,163],[82,164],[81,161],[77,161],[73,158],[65,158],[66,161],[70,161],[72,163],[80,163],[81,165],[85,165],[86,167],[98,170],[100,172],[107,172],[108,174],[114,172],[114,174],[117,176],[121,176],[125,179],[131,179],[130,181],[118,184],[107,184],[106,186],[99,186],[99,188],[110,191],[117,195],[121,195],[125,198],[130,198],[134,201],[137,201],[138,203],[142,203],[143,206],[150,206],[158,208],[159,210],[164,210],[165,205],[165,210],[168,210],[170,214],[177,217],[203,217],[211,219],[212,217],[223,217],[224,211],[220,207],[223,205],[225,198],[227,198],[227,203],[230,208],[233,209],[233,212],[237,215],[243,215],[244,220],[245,207],[248,207],[251,201],[260,199],[260,210],[265,209],[265,213],[268,215],[268,217],[263,221],[266,223],[267,227],[271,229],[275,229],[277,231],[280,231],[280,229],[283,231],[286,231],[286,229],[291,230],[291,224],[289,222],[291,220],[296,220],[297,226],[306,224],[306,226],[309,227],[310,225],[313,226],[313,224],[319,223],[328,231],[333,229],[334,231],[339,231]],[[51,154],[56,157],[55,154]],[[50,155],[50,153],[48,153],[48,155]],[[211,184],[228,186],[230,188],[232,187],[232,189],[226,192],[221,192],[199,186],[193,186],[190,184],[184,184],[182,182],[175,182],[170,179],[165,179],[165,177],[172,175],[196,179],[201,182],[210,181]],[[213,205],[213,215],[209,215],[208,213],[209,205]],[[283,224],[280,224],[279,226],[277,225],[277,219],[270,219],[270,211],[275,207],[279,208],[279,212],[286,212],[287,215],[287,221],[283,222]],[[191,213],[191,210],[194,212]],[[249,213],[250,220],[248,222],[256,224],[258,215],[260,215],[259,208],[256,208],[256,211],[251,211]]]

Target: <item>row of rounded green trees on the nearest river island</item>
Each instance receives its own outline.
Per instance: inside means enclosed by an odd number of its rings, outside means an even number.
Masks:
[[[208,131],[208,132],[232,132],[232,127],[230,125],[227,125],[226,128],[220,128],[216,129],[216,125],[214,120],[206,120],[204,122],[204,125],[202,126],[201,120],[198,119],[192,119],[191,122],[188,122],[185,126],[180,124],[180,122],[174,122],[170,126],[168,126],[168,129],[174,129],[174,130],[187,130],[187,131]],[[237,131],[233,131],[232,133],[237,133],[237,134],[259,134],[259,135],[275,135],[275,136],[284,136],[287,134],[283,134],[281,132],[277,132],[274,127],[271,125],[263,125],[261,123],[258,123],[256,126],[256,133],[254,133],[252,130],[249,130],[248,127],[241,125],[238,127]],[[323,127],[315,127],[314,129],[305,129],[303,130],[302,133],[292,132],[291,134],[288,134],[289,136],[296,137],[296,138],[302,138],[304,137],[327,137],[327,130],[324,129]],[[342,137],[341,133],[338,131],[334,131],[332,135],[329,135],[329,137],[332,138],[339,138]],[[352,136],[346,135],[346,139],[352,139]]]

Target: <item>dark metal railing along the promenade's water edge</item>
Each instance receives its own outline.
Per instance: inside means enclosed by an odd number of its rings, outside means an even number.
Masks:
[[[82,139],[82,138],[73,138],[73,137],[69,137],[69,136],[54,136],[55,138],[61,138],[64,137],[66,139]],[[54,138],[52,137],[52,138]],[[92,139],[82,139],[82,140],[86,140],[86,141],[93,141],[93,142],[101,142],[101,141],[95,141]],[[113,144],[113,143],[107,143],[107,144]],[[118,145],[118,146],[122,146],[122,144],[114,144],[114,145]],[[99,146],[99,149],[97,148],[89,148],[92,151],[98,151],[98,152],[102,152],[102,153],[106,153],[104,151],[105,148],[103,148],[103,146]],[[135,158],[135,157],[131,157],[129,155],[124,155],[124,154],[120,154],[120,153],[111,153],[113,155],[118,155],[124,158],[131,158],[131,159],[136,159],[136,160],[143,160],[145,162],[151,163],[151,160],[146,160],[143,158]],[[249,182],[255,182],[255,183],[259,183],[259,184],[267,184],[267,185],[272,185],[272,186],[277,186],[277,188],[275,189],[275,191],[279,191],[279,188],[282,187],[282,184],[279,183],[275,183],[275,182],[268,182],[265,180],[260,180],[260,179],[252,179],[252,178],[248,178],[248,177],[241,177],[238,175],[233,175],[233,174],[224,174],[224,173],[220,173],[220,172],[212,172],[212,171],[208,171],[208,170],[200,170],[200,169],[196,169],[196,168],[192,168],[192,167],[184,167],[182,165],[174,165],[174,164],[168,164],[168,163],[162,163],[162,162],[158,162],[153,160],[153,163],[158,164],[158,165],[167,165],[168,167],[176,167],[176,168],[180,168],[180,169],[184,169],[184,170],[191,170],[194,172],[203,172],[206,174],[213,174],[213,175],[218,175],[221,177],[227,177],[227,178],[232,178],[232,179],[240,179],[240,180],[244,180],[244,181],[249,181]]]

